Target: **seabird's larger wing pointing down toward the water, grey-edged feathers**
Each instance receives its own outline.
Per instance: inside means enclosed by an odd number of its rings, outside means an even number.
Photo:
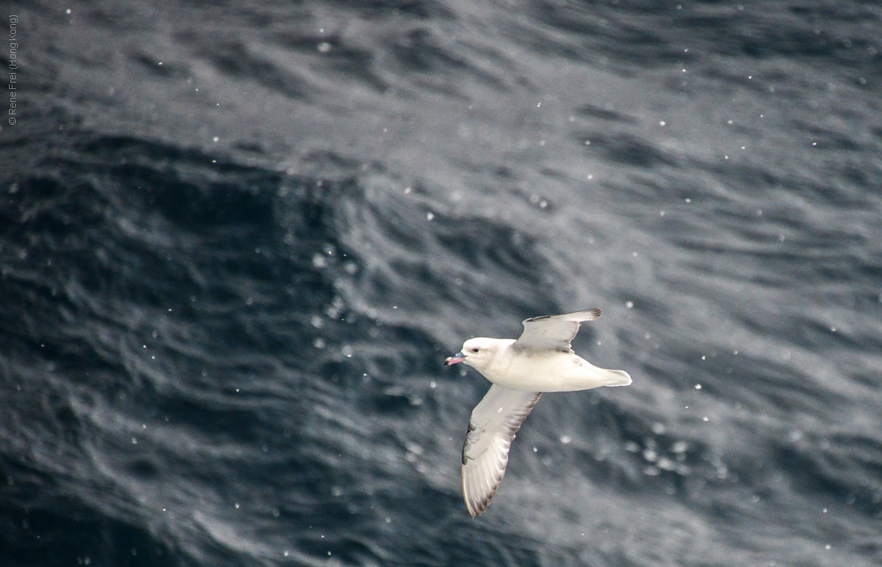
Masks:
[[[542,392],[519,392],[493,384],[472,412],[462,446],[462,494],[472,518],[486,510],[496,494],[514,434],[540,396]]]

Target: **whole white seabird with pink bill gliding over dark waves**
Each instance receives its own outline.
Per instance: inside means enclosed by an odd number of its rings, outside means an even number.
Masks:
[[[462,446],[462,493],[472,518],[490,505],[505,476],[514,435],[542,392],[631,384],[624,370],[597,368],[572,352],[579,323],[600,316],[594,309],[533,317],[524,321],[517,340],[468,339],[445,360],[445,366],[463,362],[493,383],[472,411]]]

